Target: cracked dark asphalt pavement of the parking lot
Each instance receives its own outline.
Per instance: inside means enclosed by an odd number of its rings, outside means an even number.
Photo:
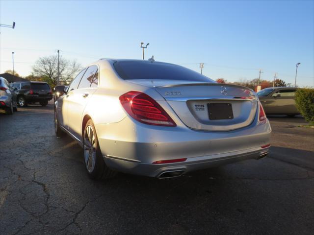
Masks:
[[[0,113],[0,234],[314,234],[314,129],[269,117],[268,157],[159,180],[92,181],[53,106]]]

